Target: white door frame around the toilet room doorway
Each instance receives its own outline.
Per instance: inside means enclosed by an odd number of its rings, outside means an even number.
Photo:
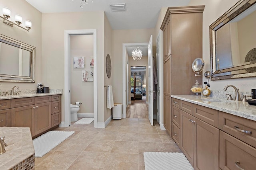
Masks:
[[[78,29],[64,31],[64,123],[62,127],[70,126],[70,35],[93,34],[93,93],[94,93],[94,127],[98,127],[97,119],[97,30]]]

